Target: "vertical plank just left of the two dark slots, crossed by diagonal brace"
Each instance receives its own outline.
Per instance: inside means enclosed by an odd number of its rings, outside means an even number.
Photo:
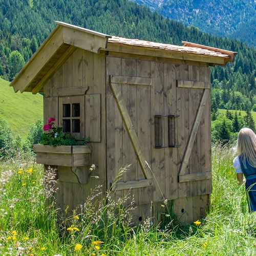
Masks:
[[[137,76],[138,77],[151,77],[150,61],[137,60]],[[151,165],[151,87],[137,86],[137,135],[141,142],[142,155],[147,163]],[[144,179],[141,167],[137,163],[138,179]],[[143,187],[138,189],[138,203],[151,204],[152,187]]]

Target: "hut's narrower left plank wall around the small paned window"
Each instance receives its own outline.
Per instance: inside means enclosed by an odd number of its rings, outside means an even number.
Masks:
[[[105,151],[105,55],[88,52],[77,48],[52,76],[44,87],[44,121],[51,116],[61,125],[61,109],[58,103],[67,97],[83,98],[82,105],[82,137],[90,137],[92,145],[91,163],[96,164],[96,170],[88,177],[88,184],[80,184],[72,173],[71,167],[58,168],[57,202],[62,209],[69,205],[73,209],[84,202],[91,189],[106,181],[106,151]],[[79,102],[79,100],[78,100]],[[72,103],[72,102],[71,102]],[[98,168],[100,166],[100,168]]]

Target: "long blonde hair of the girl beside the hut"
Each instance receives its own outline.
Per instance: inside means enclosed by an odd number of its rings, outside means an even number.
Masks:
[[[246,168],[246,158],[252,167],[256,167],[256,135],[249,128],[243,128],[238,134],[236,152],[242,155],[242,161]]]

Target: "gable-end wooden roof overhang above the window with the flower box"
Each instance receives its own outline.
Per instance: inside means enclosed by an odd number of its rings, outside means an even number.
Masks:
[[[38,93],[76,48],[98,53],[109,35],[56,22],[57,27],[12,80],[14,91]]]

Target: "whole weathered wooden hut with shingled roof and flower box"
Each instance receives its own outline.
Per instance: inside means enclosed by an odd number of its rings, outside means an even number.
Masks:
[[[90,137],[88,146],[35,146],[38,163],[57,165],[57,205],[73,209],[96,185],[110,189],[131,164],[113,191],[131,192],[135,220],[157,216],[164,200],[183,223],[201,218],[211,193],[209,67],[235,53],[56,24],[11,86],[43,92],[45,122]]]

